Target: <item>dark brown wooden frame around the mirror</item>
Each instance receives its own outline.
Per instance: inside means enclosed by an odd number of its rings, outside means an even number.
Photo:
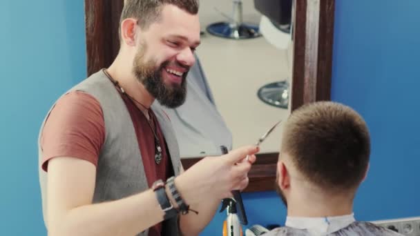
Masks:
[[[291,110],[330,100],[335,0],[294,0],[294,48]],[[124,0],[85,0],[87,73],[111,65],[120,42],[118,28]],[[182,159],[187,170],[202,157]],[[257,155],[244,192],[274,190],[278,153]]]

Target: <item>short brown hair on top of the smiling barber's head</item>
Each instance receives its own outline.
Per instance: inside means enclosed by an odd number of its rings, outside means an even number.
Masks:
[[[148,28],[161,17],[162,6],[171,4],[190,14],[198,13],[198,0],[126,0],[122,9],[120,25],[124,19],[138,19],[139,26]]]

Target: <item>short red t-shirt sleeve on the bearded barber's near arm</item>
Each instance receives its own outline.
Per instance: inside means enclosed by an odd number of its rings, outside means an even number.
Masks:
[[[105,140],[104,115],[99,101],[86,92],[61,97],[46,120],[41,134],[42,168],[54,157],[75,157],[97,166]]]

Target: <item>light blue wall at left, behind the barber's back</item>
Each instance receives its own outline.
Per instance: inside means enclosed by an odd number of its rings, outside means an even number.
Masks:
[[[1,235],[46,235],[38,129],[62,92],[86,77],[83,0],[0,1]]]

